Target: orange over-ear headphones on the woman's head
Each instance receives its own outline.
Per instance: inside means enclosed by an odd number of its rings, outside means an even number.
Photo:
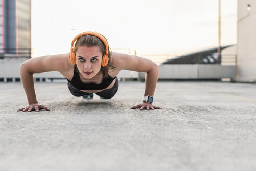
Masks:
[[[101,40],[102,40],[102,42],[105,44],[105,46],[106,46],[106,53],[105,53],[105,55],[103,55],[103,57],[102,57],[102,63],[101,63],[101,66],[102,67],[105,67],[105,66],[107,66],[107,64],[108,64],[108,60],[109,60],[109,58],[108,58],[108,50],[109,50],[109,47],[108,47],[108,42],[107,42],[107,39],[103,36],[103,35],[101,35],[101,34],[99,34],[99,33],[95,33],[95,32],[91,32],[91,31],[87,31],[87,32],[82,32],[82,33],[80,33],[80,34],[78,34],[77,36],[75,36],[75,38],[73,39],[73,41],[71,42],[71,50],[70,50],[70,61],[71,61],[71,63],[72,64],[76,64],[76,54],[75,54],[75,50],[74,50],[74,48],[75,48],[75,46],[74,46],[74,43],[75,43],[75,41],[78,39],[78,38],[80,38],[80,36],[82,36],[82,35],[94,35],[94,36],[96,36],[97,38],[100,38]]]

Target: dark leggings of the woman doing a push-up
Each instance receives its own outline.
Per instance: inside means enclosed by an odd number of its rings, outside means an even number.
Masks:
[[[69,89],[70,93],[76,97],[90,94],[90,93],[86,93],[86,92],[76,89],[75,87],[73,87],[70,84],[70,82],[68,82],[68,89]],[[95,94],[103,97],[104,99],[111,99],[116,94],[117,90],[118,90],[118,79],[116,77],[116,82],[112,88],[103,90],[103,91],[101,91],[99,93],[95,93]]]

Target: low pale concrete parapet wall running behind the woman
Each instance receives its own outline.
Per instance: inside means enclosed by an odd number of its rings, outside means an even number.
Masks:
[[[26,59],[1,59],[0,60],[0,81],[20,81],[20,64]],[[159,66],[159,79],[221,79],[236,78],[237,66],[222,66],[216,64],[166,64]],[[141,80],[145,73],[122,70],[117,77],[123,79]],[[57,71],[34,74],[36,81],[53,81],[65,79]]]

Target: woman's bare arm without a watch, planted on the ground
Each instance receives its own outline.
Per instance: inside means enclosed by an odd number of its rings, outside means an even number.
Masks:
[[[49,110],[43,105],[39,105],[36,99],[34,89],[34,73],[59,71],[65,72],[72,65],[68,60],[69,54],[53,55],[53,56],[41,56],[26,60],[20,66],[20,77],[23,84],[23,88],[26,92],[29,106],[19,109],[18,111],[39,111],[39,109]]]

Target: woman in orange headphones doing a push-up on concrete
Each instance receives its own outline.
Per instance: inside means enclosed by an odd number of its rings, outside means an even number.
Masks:
[[[154,62],[138,56],[111,52],[103,35],[83,32],[71,42],[70,53],[31,58],[21,64],[20,75],[28,106],[18,111],[50,111],[36,99],[34,73],[58,71],[67,79],[72,95],[92,99],[95,93],[102,99],[111,99],[118,90],[117,75],[121,70],[146,72],[145,93],[141,98],[143,102],[131,109],[161,109],[152,105],[158,78],[158,66]]]

